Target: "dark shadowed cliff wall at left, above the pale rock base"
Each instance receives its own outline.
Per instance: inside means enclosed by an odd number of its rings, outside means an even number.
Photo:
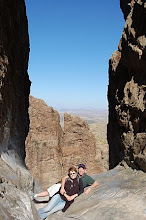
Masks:
[[[0,11],[0,150],[24,160],[30,90],[24,1],[2,0]]]

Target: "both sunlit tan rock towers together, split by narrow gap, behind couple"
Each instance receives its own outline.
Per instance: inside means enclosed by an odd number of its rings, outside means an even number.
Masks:
[[[44,189],[60,181],[72,165],[85,163],[89,174],[103,170],[97,163],[95,137],[84,120],[65,113],[63,132],[59,114],[32,96],[29,115],[25,161]]]

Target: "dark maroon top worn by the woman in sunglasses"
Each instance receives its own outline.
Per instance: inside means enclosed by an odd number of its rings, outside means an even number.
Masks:
[[[68,196],[72,196],[76,193],[79,196],[81,193],[84,192],[83,182],[81,179],[78,180],[77,178],[75,178],[75,179],[71,180],[70,178],[67,178],[65,185],[64,185],[64,189],[65,189],[66,194]],[[62,209],[62,211],[65,212],[68,209],[68,207],[74,202],[74,199],[71,201],[68,201],[64,195],[62,195],[60,192],[59,192],[59,194],[60,194],[61,198],[66,201],[65,206]]]

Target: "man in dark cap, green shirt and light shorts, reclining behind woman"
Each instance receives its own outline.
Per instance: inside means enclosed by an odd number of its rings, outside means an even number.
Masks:
[[[78,177],[81,178],[83,182],[83,188],[88,187],[85,190],[85,194],[87,195],[94,187],[98,186],[97,181],[95,181],[91,176],[86,174],[86,166],[85,164],[79,164],[78,165]],[[63,195],[65,193],[64,185],[65,181],[68,178],[68,175],[62,178],[61,183],[54,184],[51,187],[49,187],[46,191],[35,194],[33,196],[33,199],[38,200],[39,197],[45,197],[49,196],[52,197],[56,192],[59,191],[60,187],[60,193]]]

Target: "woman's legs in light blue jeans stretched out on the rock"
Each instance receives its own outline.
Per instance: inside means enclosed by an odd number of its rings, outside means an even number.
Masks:
[[[56,194],[55,196],[53,196],[52,199],[49,201],[49,203],[45,207],[40,208],[38,210],[40,217],[42,217],[43,213],[50,212],[61,201],[63,200],[61,199],[59,194]]]

